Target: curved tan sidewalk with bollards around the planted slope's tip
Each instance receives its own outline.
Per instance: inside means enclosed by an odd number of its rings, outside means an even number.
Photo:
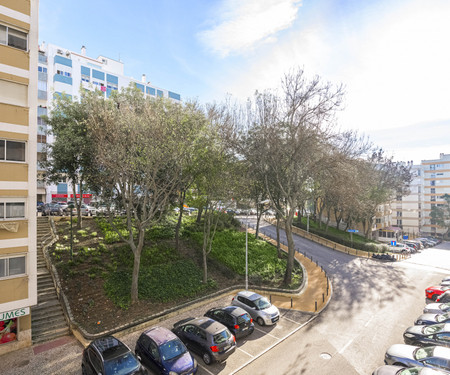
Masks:
[[[255,233],[253,229],[249,232]],[[265,241],[277,246],[276,240],[263,235],[258,236]],[[280,244],[281,249],[288,251],[287,246]],[[303,254],[296,252],[295,257],[302,264],[305,274],[305,287],[299,294],[277,293],[277,292],[259,292],[260,294],[271,298],[272,303],[279,308],[294,309],[310,313],[321,312],[328,304],[331,298],[331,283],[329,282],[325,271],[323,271],[311,259],[305,257]]]

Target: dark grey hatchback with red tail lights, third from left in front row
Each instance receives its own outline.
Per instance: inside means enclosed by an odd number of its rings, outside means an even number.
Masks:
[[[174,324],[175,333],[203,362],[225,361],[236,350],[236,338],[227,327],[210,318],[188,318]]]

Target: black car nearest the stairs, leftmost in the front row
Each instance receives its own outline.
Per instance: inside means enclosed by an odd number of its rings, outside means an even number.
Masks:
[[[148,374],[130,348],[114,336],[96,339],[83,350],[81,372],[83,375]]]

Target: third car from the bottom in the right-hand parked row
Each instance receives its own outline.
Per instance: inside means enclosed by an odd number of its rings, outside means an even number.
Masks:
[[[450,323],[409,327],[403,333],[403,339],[408,345],[450,347]]]

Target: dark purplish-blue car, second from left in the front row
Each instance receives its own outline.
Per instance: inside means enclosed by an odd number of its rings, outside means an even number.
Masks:
[[[143,332],[136,342],[135,353],[144,366],[156,374],[186,374],[197,372],[197,361],[183,342],[164,327]]]

